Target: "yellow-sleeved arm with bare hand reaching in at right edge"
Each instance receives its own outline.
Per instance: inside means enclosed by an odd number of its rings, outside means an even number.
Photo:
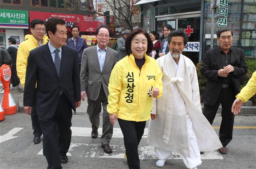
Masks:
[[[240,93],[236,95],[236,99],[232,105],[232,113],[237,115],[241,111],[242,103],[247,102],[256,93],[256,71],[252,74],[252,77],[244,86]]]

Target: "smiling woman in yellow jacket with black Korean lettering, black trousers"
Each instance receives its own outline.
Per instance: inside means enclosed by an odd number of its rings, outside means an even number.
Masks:
[[[129,169],[140,169],[138,144],[150,119],[152,97],[162,95],[162,72],[154,58],[147,56],[153,49],[150,36],[140,28],[126,38],[129,54],[114,66],[108,84],[110,121],[118,119],[124,135]]]

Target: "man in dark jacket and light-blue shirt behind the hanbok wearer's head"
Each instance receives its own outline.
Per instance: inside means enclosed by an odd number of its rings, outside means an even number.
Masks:
[[[172,32],[172,26],[169,24],[166,24],[164,26],[163,30],[164,30],[164,40],[162,40],[162,46],[161,46],[160,52],[158,54],[159,57],[168,54],[168,52],[170,51],[170,49],[168,47],[168,36]]]

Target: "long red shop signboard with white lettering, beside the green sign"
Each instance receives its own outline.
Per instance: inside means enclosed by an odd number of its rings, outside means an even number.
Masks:
[[[80,32],[96,32],[98,26],[102,25],[102,22],[95,21],[93,17],[86,15],[30,11],[29,16],[30,22],[34,19],[47,21],[50,18],[62,18],[66,21],[68,31],[71,31],[72,26],[77,25]]]

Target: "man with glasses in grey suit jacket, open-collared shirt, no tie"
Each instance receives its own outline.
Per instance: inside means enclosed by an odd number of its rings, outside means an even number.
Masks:
[[[80,81],[81,99],[88,99],[87,113],[92,123],[92,138],[98,137],[100,124],[101,103],[103,107],[101,147],[105,153],[112,153],[109,146],[113,134],[113,125],[110,123],[107,112],[108,81],[114,65],[118,61],[117,52],[107,47],[110,38],[110,29],[100,26],[96,29],[98,44],[84,49],[82,54]]]

